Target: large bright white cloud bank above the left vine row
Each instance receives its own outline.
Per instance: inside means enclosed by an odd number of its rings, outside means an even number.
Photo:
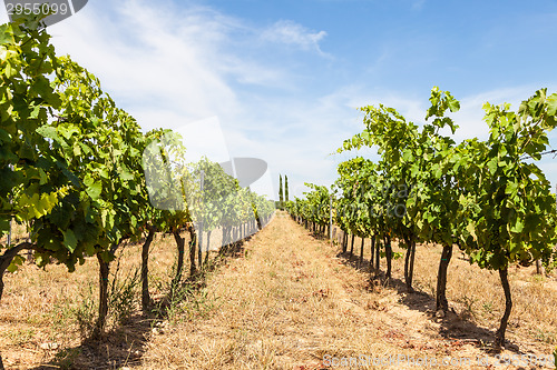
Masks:
[[[271,29],[284,39],[272,40],[267,33],[271,39],[257,47],[274,47],[282,40],[302,52],[319,50],[319,41],[324,37],[324,32],[312,33],[287,21],[275,23]],[[295,77],[284,63],[271,67],[265,61],[247,58],[242,48],[228,47],[231,42],[243,47],[242,40],[234,39],[235,32],[258,40],[261,30],[202,7],[178,9],[167,2],[155,6],[127,0],[102,6],[89,3],[78,14],[52,26],[49,32],[57,52],[71,54],[99,77],[104,90],[129,111],[144,130],[164,127],[183,131],[189,139],[186,147],[192,156],[209,150],[218,157],[215,160],[223,160],[217,150],[221,146],[209,149],[203,144],[214,139],[208,127],[187,126],[215,117],[224,128],[231,154],[266,160],[273,179],[282,168],[292,171],[291,183],[295,182],[295,173],[300,181],[314,182],[334,176],[334,161],[326,154],[342,142],[332,129],[344,116],[336,99],[325,97],[307,103],[303,99],[257,97],[250,100],[238,96],[234,81],[286,90],[295,86]],[[321,129],[314,119],[321,121]],[[199,140],[195,144],[199,136],[208,141]],[[268,192],[268,187],[266,189]]]

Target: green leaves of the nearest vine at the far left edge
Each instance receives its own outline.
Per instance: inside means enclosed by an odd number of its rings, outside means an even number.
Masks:
[[[56,64],[50,37],[23,21],[0,26],[1,234],[12,218],[31,223],[50,213],[75,186],[63,158],[39,132],[61,102],[48,80]]]

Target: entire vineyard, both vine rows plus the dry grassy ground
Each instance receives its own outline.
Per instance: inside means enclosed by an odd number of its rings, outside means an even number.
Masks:
[[[361,108],[336,152],[380,160],[294,200],[281,177],[275,204],[143,132],[37,19],[0,26],[0,369],[557,359],[557,200],[536,164],[557,93],[485,103],[489,138],[461,143],[448,91],[423,126]]]

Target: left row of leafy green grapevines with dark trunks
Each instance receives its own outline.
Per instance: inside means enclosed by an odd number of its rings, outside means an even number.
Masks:
[[[94,74],[56,56],[36,20],[2,24],[0,34],[0,299],[6,273],[26,261],[22,252],[40,268],[60,263],[70,272],[92,257],[99,297],[90,337],[98,339],[105,334],[110,268],[119,249],[143,243],[141,306],[148,312],[156,233],[176,241],[172,298],[183,283],[183,232],[189,234],[188,279],[195,279],[209,264],[212,234],[219,231],[217,249],[225,253],[268,222],[272,201],[241,188],[218,163],[187,163],[186,148],[172,131],[143,133]],[[12,223],[25,230],[16,238]]]

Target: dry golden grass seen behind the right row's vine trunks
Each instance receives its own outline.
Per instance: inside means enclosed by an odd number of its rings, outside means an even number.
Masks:
[[[361,239],[355,238],[354,254],[360,253]],[[358,246],[358,248],[356,248]],[[350,248],[349,248],[350,249]],[[418,291],[431,298],[436,297],[437,271],[441,258],[441,247],[418,244],[416,252],[413,286]],[[404,253],[404,249],[393,243],[393,251]],[[364,259],[370,257],[370,241],[364,243]],[[352,257],[356,264],[358,257]],[[382,269],[385,267],[382,263]],[[403,258],[393,261],[393,278],[398,280],[399,290],[403,283]],[[365,266],[368,269],[368,266]],[[512,313],[510,316],[507,339],[514,344],[530,350],[551,353],[557,346],[557,276],[536,274],[536,268],[512,267],[509,280],[512,293]],[[470,264],[465,254],[455,247],[449,266],[447,298],[460,318],[470,323],[495,332],[505,310],[505,296],[496,271],[480,269]],[[429,309],[430,307],[427,307]],[[432,312],[429,312],[432,313]],[[453,329],[455,328],[449,328]],[[481,339],[488,340],[492,332],[476,331]],[[457,332],[448,333],[452,337]]]

